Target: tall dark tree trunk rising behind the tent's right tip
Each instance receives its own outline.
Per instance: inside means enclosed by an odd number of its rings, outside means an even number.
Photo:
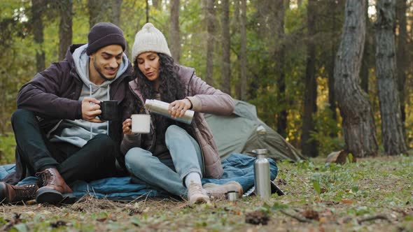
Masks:
[[[315,4],[316,0],[309,0],[307,6],[307,66],[305,68],[304,115],[302,116],[301,135],[302,154],[307,157],[318,155],[316,140],[310,140],[311,132],[315,130],[313,115],[317,110],[316,45],[314,45],[314,34],[316,34]]]

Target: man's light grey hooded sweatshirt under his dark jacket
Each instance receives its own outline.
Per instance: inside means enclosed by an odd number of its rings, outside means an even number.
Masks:
[[[85,97],[93,97],[99,101],[110,100],[109,90],[111,83],[119,78],[120,75],[127,71],[127,56],[123,54],[122,62],[116,73],[116,78],[113,80],[105,80],[102,85],[95,85],[89,79],[89,59],[86,54],[87,44],[77,48],[73,52],[73,60],[75,62],[76,71],[83,81],[82,92],[80,93],[79,101]],[[56,128],[56,126],[55,126]],[[51,142],[66,142],[83,147],[88,140],[99,133],[109,134],[109,122],[95,123],[87,122],[83,119],[69,120],[64,119],[59,124],[55,131],[52,131],[53,136],[50,138]]]

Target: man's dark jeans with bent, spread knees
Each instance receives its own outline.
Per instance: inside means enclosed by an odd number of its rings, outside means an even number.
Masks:
[[[38,119],[29,110],[16,110],[12,125],[20,159],[34,175],[45,168],[57,168],[69,184],[74,180],[97,180],[115,175],[116,144],[105,135],[94,136],[83,147],[69,143],[50,143]]]

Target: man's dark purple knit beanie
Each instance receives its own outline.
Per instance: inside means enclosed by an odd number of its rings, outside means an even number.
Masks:
[[[123,31],[111,22],[99,22],[90,29],[87,35],[86,54],[91,55],[109,45],[120,45],[125,51],[126,41]]]

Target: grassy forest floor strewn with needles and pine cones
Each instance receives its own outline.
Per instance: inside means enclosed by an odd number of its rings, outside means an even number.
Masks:
[[[1,205],[0,231],[413,231],[412,156],[278,165],[286,195],[265,202],[245,197],[190,208],[174,199],[119,203],[89,195],[73,205]]]

